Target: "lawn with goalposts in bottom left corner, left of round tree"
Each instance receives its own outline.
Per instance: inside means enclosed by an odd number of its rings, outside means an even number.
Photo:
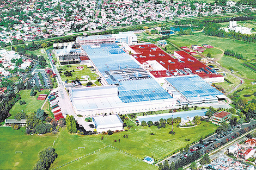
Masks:
[[[52,146],[58,134],[26,135],[25,128],[13,130],[0,127],[0,167],[1,169],[32,169],[38,160],[40,150]],[[15,152],[23,152],[15,154]]]

